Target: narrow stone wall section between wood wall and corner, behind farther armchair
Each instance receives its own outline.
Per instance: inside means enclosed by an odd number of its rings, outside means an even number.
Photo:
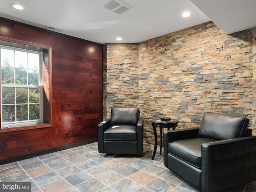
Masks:
[[[112,107],[138,106],[138,64],[138,43],[104,45],[104,119]]]

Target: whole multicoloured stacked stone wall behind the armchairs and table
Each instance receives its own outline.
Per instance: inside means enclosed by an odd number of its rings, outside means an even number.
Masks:
[[[179,120],[178,128],[191,128],[200,125],[204,112],[243,115],[256,132],[252,31],[227,35],[213,22],[206,22],[140,42],[138,53],[134,44],[107,44],[104,106],[138,106],[144,118],[144,138],[150,143],[154,142],[150,119],[162,116]],[[131,54],[127,46],[134,48],[138,58],[128,63],[136,68],[124,89],[124,77],[132,69],[122,67]]]

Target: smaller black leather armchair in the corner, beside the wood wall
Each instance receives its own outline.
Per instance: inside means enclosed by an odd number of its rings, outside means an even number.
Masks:
[[[99,153],[142,154],[143,119],[138,108],[112,108],[98,125]]]

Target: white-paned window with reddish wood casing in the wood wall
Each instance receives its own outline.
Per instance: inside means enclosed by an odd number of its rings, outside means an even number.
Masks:
[[[0,131],[51,126],[51,48],[44,47],[0,40]]]

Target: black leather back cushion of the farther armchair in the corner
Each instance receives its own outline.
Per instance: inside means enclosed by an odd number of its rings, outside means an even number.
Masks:
[[[134,125],[137,126],[140,116],[138,108],[121,108],[111,109],[110,125]]]

